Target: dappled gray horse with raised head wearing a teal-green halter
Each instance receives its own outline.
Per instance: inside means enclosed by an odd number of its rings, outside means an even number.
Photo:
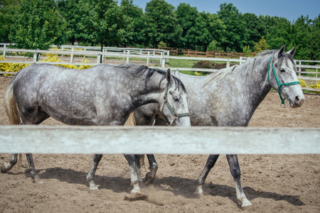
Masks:
[[[257,57],[236,67],[219,70],[211,75],[196,77],[181,75],[188,92],[188,107],[192,126],[247,126],[270,89],[279,91],[284,104],[288,100],[290,107],[301,107],[304,94],[296,75],[296,66],[292,57],[295,48],[284,53],[280,50],[268,50]],[[154,104],[147,104],[134,110],[137,125],[164,125],[161,113]],[[158,168],[154,155],[149,158],[150,173],[146,182],[152,182]],[[219,155],[209,155],[196,185],[196,194],[203,195],[202,185],[215,165]],[[245,197],[240,181],[240,166],[237,155],[227,155],[230,172],[235,181],[238,203],[242,207],[251,203]]]

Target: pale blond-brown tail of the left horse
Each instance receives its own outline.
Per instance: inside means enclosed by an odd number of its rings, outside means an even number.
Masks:
[[[16,76],[15,76],[16,77]],[[16,98],[14,97],[14,79],[11,80],[7,89],[6,89],[6,97],[4,102],[4,108],[6,109],[6,114],[9,117],[9,121],[11,125],[21,124],[21,118],[19,114],[18,105],[16,104]]]

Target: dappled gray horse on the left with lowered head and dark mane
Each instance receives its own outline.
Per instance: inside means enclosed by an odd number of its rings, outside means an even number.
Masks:
[[[166,79],[166,81],[164,81]],[[97,65],[87,70],[71,70],[55,65],[31,65],[11,80],[6,91],[6,113],[11,124],[41,124],[50,116],[70,125],[121,126],[132,111],[144,104],[155,103],[167,120],[177,126],[190,126],[186,89],[170,70],[150,69],[142,65],[117,67]],[[167,107],[166,107],[167,106]],[[31,176],[41,183],[31,154],[26,154]],[[134,190],[139,192],[134,155],[125,155]],[[87,182],[93,181],[102,155],[94,155]],[[8,172],[17,161],[11,155],[1,166]],[[140,178],[141,179],[141,178]]]

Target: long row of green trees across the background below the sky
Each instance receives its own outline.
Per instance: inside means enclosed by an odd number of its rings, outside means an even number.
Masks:
[[[297,46],[295,57],[320,60],[320,16],[294,22],[277,16],[242,14],[233,4],[217,13],[199,12],[190,4],[176,8],[150,0],[145,9],[135,0],[0,0],[0,42],[21,48],[48,48],[71,43],[138,48],[185,48],[225,52]]]

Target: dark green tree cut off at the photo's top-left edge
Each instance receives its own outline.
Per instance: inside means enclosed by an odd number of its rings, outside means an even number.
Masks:
[[[0,42],[10,42],[10,26],[14,23],[14,13],[20,2],[21,0],[0,1]]]

